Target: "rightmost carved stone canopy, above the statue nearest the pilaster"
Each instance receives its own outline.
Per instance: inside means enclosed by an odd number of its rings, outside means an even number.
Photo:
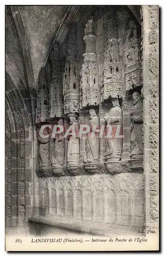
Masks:
[[[135,20],[129,22],[125,42],[125,90],[142,86],[140,40]]]

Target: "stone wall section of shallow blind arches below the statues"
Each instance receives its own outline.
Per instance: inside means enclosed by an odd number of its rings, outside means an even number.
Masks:
[[[73,223],[144,224],[143,174],[83,175],[39,180],[39,215]]]

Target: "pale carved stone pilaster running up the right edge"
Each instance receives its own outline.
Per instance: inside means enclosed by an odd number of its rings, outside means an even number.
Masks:
[[[159,218],[159,7],[142,6],[145,226]]]

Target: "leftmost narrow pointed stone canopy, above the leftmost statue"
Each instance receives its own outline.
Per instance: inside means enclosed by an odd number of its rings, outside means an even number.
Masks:
[[[41,68],[39,74],[39,89],[37,92],[37,108],[36,108],[36,123],[48,122],[48,86],[45,80],[44,68]]]

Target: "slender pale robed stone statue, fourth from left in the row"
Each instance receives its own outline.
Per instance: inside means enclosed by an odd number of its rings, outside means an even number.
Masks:
[[[85,162],[95,162],[98,161],[99,157],[99,134],[95,133],[94,137],[92,138],[91,133],[94,132],[95,129],[98,129],[99,119],[96,115],[95,110],[89,110],[89,114],[90,133],[88,133]]]

